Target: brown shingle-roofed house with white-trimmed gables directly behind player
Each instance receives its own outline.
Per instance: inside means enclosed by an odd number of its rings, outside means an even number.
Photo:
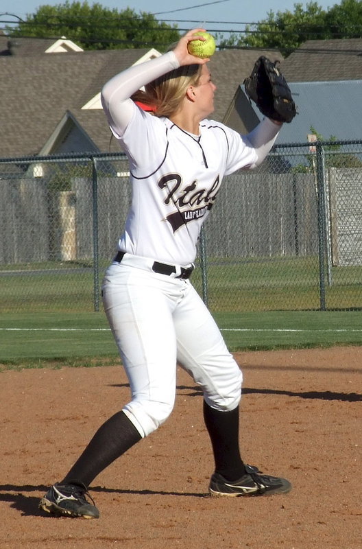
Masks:
[[[51,42],[51,43],[50,43]],[[66,38],[0,36],[0,156],[66,152],[119,152],[100,104],[101,87],[114,74],[159,56],[156,49],[82,51]],[[262,50],[217,51],[210,71],[217,85],[213,118],[245,132],[245,115],[256,116],[250,102],[237,100],[240,83]],[[275,58],[282,60],[281,54]],[[252,122],[250,122],[252,124]]]

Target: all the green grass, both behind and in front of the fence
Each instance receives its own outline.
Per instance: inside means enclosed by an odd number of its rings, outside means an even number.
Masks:
[[[333,268],[327,311],[318,310],[317,257],[215,258],[207,273],[208,307],[231,351],[362,345],[362,267]],[[93,283],[89,263],[1,267],[0,364],[119,361]],[[193,283],[203,294],[200,267]]]

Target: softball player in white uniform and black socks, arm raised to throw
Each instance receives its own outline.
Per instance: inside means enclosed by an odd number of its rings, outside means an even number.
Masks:
[[[132,205],[102,295],[132,398],[101,425],[69,473],[40,500],[48,513],[99,517],[86,497],[88,486],[169,417],[176,362],[203,390],[215,456],[210,494],[291,489],[287,480],[263,475],[241,459],[241,371],[190,282],[197,238],[223,176],[259,165],[280,125],[264,119],[242,137],[207,118],[216,86],[208,60],[187,49],[200,30],[185,34],[173,51],[114,76],[101,93],[112,133],[130,162]],[[143,103],[154,113],[131,99],[143,86]]]

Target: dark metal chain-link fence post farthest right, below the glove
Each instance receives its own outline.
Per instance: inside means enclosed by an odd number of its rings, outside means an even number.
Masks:
[[[318,250],[319,250],[319,307],[326,310],[326,283],[324,271],[324,245],[325,245],[325,196],[324,196],[324,159],[322,143],[315,141],[316,148],[316,172],[317,172],[317,211],[318,211]]]

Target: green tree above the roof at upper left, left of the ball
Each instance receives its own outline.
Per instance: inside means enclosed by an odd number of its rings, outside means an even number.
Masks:
[[[36,36],[60,38],[66,36],[83,49],[130,49],[156,47],[167,49],[180,38],[177,25],[157,21],[147,12],[130,8],[118,11],[104,8],[99,3],[92,6],[87,1],[69,0],[63,4],[41,5],[33,15],[9,29],[11,36]]]

